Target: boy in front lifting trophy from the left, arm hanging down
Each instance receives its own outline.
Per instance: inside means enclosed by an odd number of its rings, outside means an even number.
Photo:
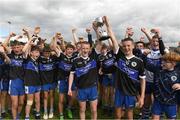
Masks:
[[[90,101],[91,119],[97,119],[97,65],[96,53],[90,53],[90,44],[82,42],[81,54],[74,59],[69,75],[68,95],[72,96],[72,84],[77,87],[80,119],[85,119],[86,101]]]

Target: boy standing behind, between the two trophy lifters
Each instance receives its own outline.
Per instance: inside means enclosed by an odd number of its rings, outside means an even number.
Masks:
[[[114,107],[114,72],[115,72],[115,56],[109,46],[102,45],[101,53],[98,56],[99,74],[102,77],[103,87],[103,109],[111,113]]]

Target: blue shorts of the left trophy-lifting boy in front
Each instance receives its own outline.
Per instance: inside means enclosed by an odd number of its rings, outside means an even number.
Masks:
[[[78,89],[77,98],[78,98],[78,101],[80,102],[96,100],[98,98],[97,86],[84,88],[84,89]]]

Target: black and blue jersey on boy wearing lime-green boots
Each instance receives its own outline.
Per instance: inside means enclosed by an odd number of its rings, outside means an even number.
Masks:
[[[60,54],[60,56],[57,58],[57,64],[58,64],[58,74],[57,74],[57,80],[67,80],[69,77],[69,73],[71,71],[72,67],[72,61],[76,57],[76,55],[72,57],[67,57],[63,53]]]

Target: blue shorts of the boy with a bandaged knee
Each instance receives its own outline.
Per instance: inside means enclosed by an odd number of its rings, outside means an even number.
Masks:
[[[34,94],[41,91],[41,86],[25,86],[26,94]]]

